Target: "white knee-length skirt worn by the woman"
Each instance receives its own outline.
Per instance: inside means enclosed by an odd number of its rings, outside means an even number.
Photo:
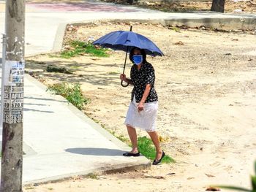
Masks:
[[[129,104],[127,117],[124,124],[133,128],[140,128],[144,131],[156,131],[158,101],[153,101],[144,104],[144,110],[138,112],[138,103],[135,97]]]

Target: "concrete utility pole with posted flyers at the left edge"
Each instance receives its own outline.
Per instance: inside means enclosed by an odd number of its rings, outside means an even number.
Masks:
[[[7,0],[1,192],[22,191],[25,0]],[[4,54],[4,53],[3,53]]]

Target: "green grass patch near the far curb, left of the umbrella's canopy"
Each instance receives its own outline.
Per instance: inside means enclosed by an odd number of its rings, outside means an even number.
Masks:
[[[89,54],[97,57],[108,57],[107,49],[101,47],[94,47],[90,43],[72,41],[69,42],[70,50],[64,50],[61,52],[61,58],[72,58],[78,55]]]

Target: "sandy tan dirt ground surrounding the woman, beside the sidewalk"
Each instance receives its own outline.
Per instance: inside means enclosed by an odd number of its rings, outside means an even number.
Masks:
[[[95,23],[68,29],[65,42],[88,41],[110,31],[129,30],[129,23]],[[255,34],[175,31],[148,23],[133,23],[133,31],[153,40],[165,53],[164,57],[147,59],[157,78],[161,145],[176,163],[100,177],[74,177],[62,183],[26,186],[24,191],[197,192],[216,184],[249,188],[256,154]],[[124,56],[124,52],[111,50],[109,58],[37,55],[27,58],[34,62],[27,61],[26,70],[34,72],[45,85],[80,82],[90,99],[86,115],[116,135],[128,137],[123,122],[132,87],[120,85]],[[49,64],[64,66],[73,74],[45,72]],[[130,67],[128,62],[127,76]],[[138,135],[146,134],[138,131]]]

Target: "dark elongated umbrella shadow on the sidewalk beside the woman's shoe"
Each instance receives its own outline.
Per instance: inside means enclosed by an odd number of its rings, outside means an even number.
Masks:
[[[76,153],[80,155],[96,155],[96,156],[120,156],[124,151],[107,149],[107,148],[92,148],[92,147],[79,147],[79,148],[68,148],[65,150],[69,153]]]

